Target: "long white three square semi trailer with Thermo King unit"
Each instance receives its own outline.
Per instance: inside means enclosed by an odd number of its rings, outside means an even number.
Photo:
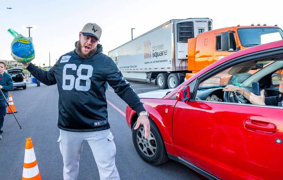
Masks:
[[[160,89],[175,88],[185,79],[188,39],[212,30],[212,19],[172,19],[108,52],[127,80],[155,79]]]

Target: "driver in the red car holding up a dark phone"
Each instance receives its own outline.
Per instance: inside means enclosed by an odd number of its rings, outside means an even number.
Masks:
[[[280,93],[283,93],[283,68],[279,69],[278,74],[280,75],[279,91]],[[252,104],[257,104],[257,105],[278,106],[278,103],[283,101],[283,96],[265,97],[264,90],[261,90],[260,96],[257,96],[254,93],[242,89],[241,87],[237,87],[234,85],[227,85],[223,89],[223,91],[230,91],[230,92],[238,91]]]

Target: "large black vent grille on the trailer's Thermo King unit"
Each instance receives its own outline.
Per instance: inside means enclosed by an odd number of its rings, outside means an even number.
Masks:
[[[187,43],[189,38],[194,37],[193,22],[177,23],[179,43]]]

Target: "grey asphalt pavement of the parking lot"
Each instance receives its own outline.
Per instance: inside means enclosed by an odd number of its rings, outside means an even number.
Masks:
[[[153,83],[131,81],[137,93],[158,90]],[[10,91],[10,94],[18,111],[15,115],[23,129],[19,128],[12,114],[5,116],[3,139],[0,140],[0,179],[21,179],[25,141],[28,137],[33,141],[41,178],[63,179],[63,159],[57,142],[59,137],[57,85],[29,86],[25,90],[18,88]],[[106,97],[125,113],[126,103],[111,87],[106,90]],[[145,163],[133,146],[132,134],[125,117],[110,104],[108,104],[108,120],[116,144],[115,161],[121,179],[205,179],[173,160],[159,166]],[[95,159],[87,142],[84,142],[80,156],[78,179],[99,179]]]

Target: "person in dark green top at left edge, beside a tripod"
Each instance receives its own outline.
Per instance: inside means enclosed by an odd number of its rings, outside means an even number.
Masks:
[[[7,102],[4,98],[8,98],[8,91],[11,91],[14,89],[14,84],[12,80],[12,76],[8,73],[5,73],[5,67],[6,63],[3,61],[0,61],[0,89],[2,90],[5,97],[2,96],[2,93],[0,93],[0,139],[2,139],[2,133],[1,130],[4,123],[4,117],[6,115],[6,107]]]

